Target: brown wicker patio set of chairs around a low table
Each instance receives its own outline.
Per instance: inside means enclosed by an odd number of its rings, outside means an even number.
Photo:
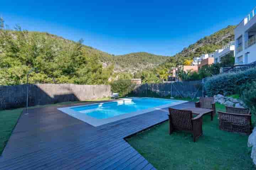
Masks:
[[[249,135],[251,132],[251,113],[245,108],[225,106],[226,112],[219,114],[219,128],[230,132]],[[211,120],[216,113],[213,97],[200,97],[194,108],[169,108],[169,134],[175,130],[190,132],[193,141],[203,135],[203,115],[210,115]],[[196,115],[193,117],[193,115]]]

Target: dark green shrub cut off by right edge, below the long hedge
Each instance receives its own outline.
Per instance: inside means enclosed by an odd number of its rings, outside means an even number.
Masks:
[[[241,95],[242,100],[252,113],[256,113],[256,81],[252,83],[246,83],[245,87],[242,87],[243,92]]]

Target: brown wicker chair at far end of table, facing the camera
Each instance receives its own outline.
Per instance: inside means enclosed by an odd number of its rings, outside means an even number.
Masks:
[[[213,120],[213,115],[216,114],[216,107],[213,97],[200,97],[199,102],[195,103],[195,107],[212,109],[213,114],[211,114],[211,120]]]

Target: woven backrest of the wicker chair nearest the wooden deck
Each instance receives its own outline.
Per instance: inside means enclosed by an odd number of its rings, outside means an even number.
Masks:
[[[175,129],[192,130],[192,112],[169,108],[170,118]]]

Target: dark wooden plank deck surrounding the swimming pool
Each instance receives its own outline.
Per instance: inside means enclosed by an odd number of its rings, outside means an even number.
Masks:
[[[0,157],[0,169],[155,169],[124,138],[167,120],[167,108],[94,127],[57,109],[74,105],[23,112]]]

